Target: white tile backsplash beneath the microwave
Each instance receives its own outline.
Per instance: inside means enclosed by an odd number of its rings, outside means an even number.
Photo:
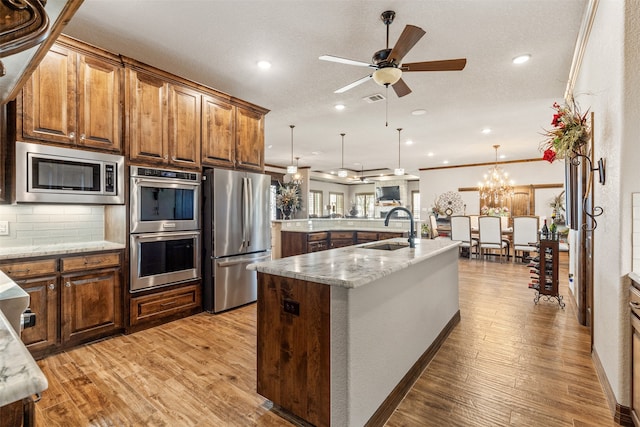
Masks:
[[[0,221],[9,222],[2,248],[104,240],[104,206],[0,205]]]

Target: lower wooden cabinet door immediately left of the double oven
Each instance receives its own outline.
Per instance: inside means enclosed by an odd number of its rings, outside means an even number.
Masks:
[[[62,342],[80,342],[122,328],[120,270],[62,276]]]

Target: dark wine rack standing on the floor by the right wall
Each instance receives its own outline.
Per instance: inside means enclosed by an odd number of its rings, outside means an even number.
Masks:
[[[536,290],[536,296],[533,299],[536,304],[540,298],[547,301],[555,299],[560,308],[565,307],[558,289],[559,254],[558,235],[541,233],[538,242],[538,255],[529,262],[529,272],[531,273],[529,287]]]

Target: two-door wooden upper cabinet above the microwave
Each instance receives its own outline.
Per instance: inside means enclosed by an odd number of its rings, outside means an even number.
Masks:
[[[56,43],[18,97],[18,138],[122,151],[123,68]]]

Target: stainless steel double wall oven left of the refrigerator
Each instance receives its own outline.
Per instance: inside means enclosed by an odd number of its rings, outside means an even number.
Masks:
[[[131,166],[131,292],[200,278],[200,179]]]

